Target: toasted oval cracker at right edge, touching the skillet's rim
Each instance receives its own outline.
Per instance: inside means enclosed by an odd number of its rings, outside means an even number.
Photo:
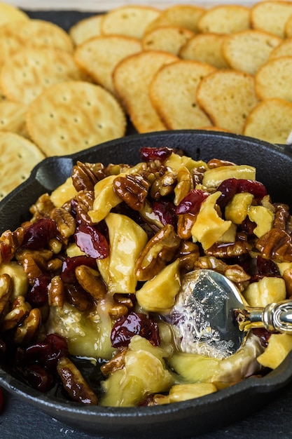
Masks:
[[[262,100],[247,116],[244,135],[284,144],[291,133],[292,104],[278,98]]]

